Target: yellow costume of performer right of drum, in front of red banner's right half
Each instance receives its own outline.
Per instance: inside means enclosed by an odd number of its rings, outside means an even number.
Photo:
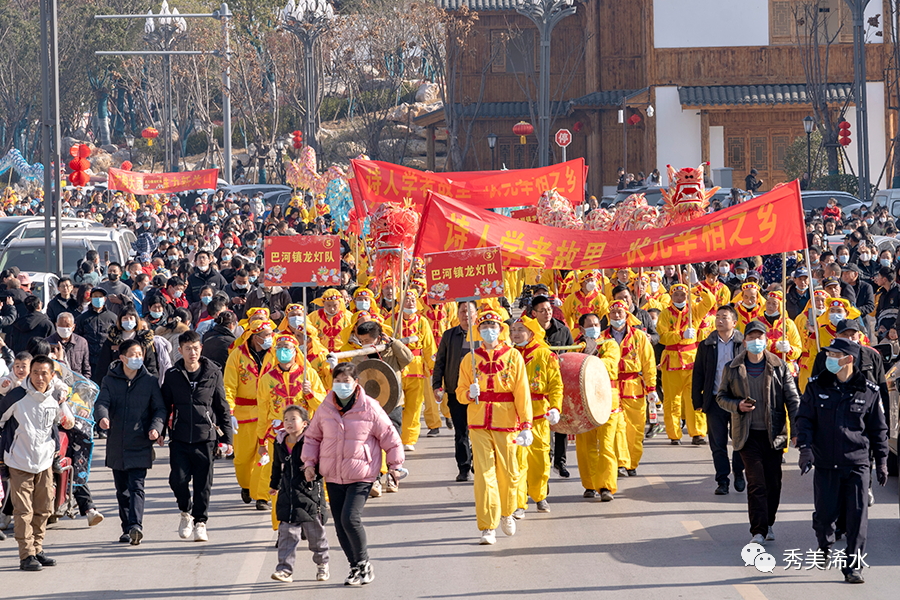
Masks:
[[[673,284],[669,292],[677,290],[687,292],[683,283]],[[690,319],[688,307],[678,309],[670,304],[659,315],[656,331],[659,332],[659,343],[666,349],[662,354],[663,411],[665,413],[666,434],[670,440],[681,439],[681,418],[687,422],[691,437],[706,435],[706,415],[694,411],[691,402],[691,381],[693,379],[694,359],[697,357],[697,344],[709,334],[701,329],[701,323],[715,306],[716,299],[708,290],[700,289],[699,297],[691,294]],[[695,336],[684,337],[687,329],[694,329]]]

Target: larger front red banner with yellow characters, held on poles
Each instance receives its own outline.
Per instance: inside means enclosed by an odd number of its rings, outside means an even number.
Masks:
[[[600,269],[746,258],[806,248],[796,181],[690,223],[642,231],[580,231],[510,219],[432,194],[415,255],[503,249],[506,267]]]

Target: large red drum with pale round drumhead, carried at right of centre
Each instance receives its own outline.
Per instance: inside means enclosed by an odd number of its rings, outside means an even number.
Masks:
[[[559,357],[563,403],[556,433],[586,433],[609,420],[612,387],[603,361],[589,354],[568,352]]]

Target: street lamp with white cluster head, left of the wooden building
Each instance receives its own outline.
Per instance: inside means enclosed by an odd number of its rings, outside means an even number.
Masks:
[[[307,145],[318,151],[316,144],[316,73],[313,64],[313,51],[316,42],[330,27],[334,20],[334,8],[327,0],[288,0],[287,5],[279,16],[279,26],[290,31],[303,44],[303,54],[306,61],[306,127],[303,132]]]

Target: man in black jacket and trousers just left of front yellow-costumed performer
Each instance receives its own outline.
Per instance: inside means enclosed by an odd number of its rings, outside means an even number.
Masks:
[[[434,399],[439,402],[440,393],[447,395],[447,408],[453,421],[453,447],[459,474],[457,481],[468,481],[472,472],[472,445],[469,442],[468,405],[456,400],[456,384],[459,381],[459,364],[472,346],[466,341],[469,335],[469,320],[475,318],[477,307],[474,302],[459,303],[459,325],[451,327],[441,336],[434,369],[431,372],[431,389]],[[473,331],[474,334],[474,331]]]

